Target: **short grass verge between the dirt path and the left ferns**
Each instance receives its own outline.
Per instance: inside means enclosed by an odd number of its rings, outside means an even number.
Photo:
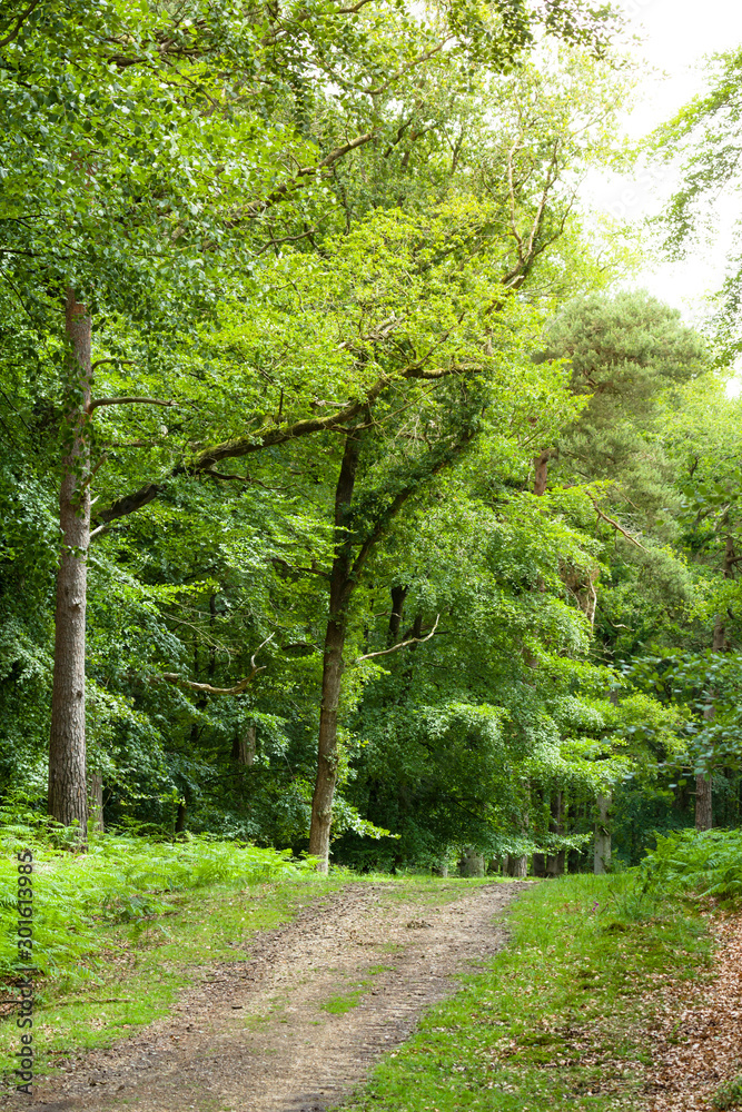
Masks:
[[[214,884],[158,897],[150,920],[107,925],[89,936],[90,954],[75,971],[36,983],[36,1073],[52,1072],[73,1051],[107,1046],[166,1014],[179,992],[219,962],[249,956],[257,931],[293,919],[344,881],[318,877],[237,886]],[[16,1014],[0,1022],[0,1072],[14,1068]]]

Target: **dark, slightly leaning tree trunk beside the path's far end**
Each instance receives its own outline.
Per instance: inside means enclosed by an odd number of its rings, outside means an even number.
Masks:
[[[325,632],[321,707],[317,744],[317,781],[311,798],[309,853],[317,858],[317,870],[326,873],[329,864],[329,835],[333,800],[337,784],[337,709],[343,684],[343,649],[347,633],[347,608],[354,583],[349,578],[353,547],[346,520],[356,481],[360,441],[349,433],[335,492],[335,558],[329,579],[329,615]]]

